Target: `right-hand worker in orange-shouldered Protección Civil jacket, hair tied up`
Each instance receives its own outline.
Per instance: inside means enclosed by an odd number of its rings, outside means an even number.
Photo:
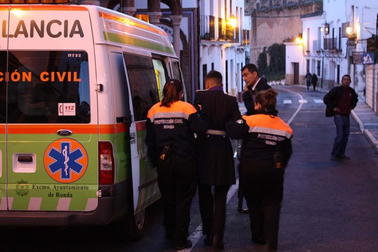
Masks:
[[[259,91],[254,115],[229,120],[226,132],[243,139],[241,186],[249,209],[251,240],[277,249],[284,171],[292,153],[292,130],[277,116],[277,92]]]

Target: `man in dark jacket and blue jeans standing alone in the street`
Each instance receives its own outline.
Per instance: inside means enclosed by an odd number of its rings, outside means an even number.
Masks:
[[[323,98],[327,105],[326,116],[334,117],[336,137],[331,152],[331,160],[350,159],[345,156],[345,149],[349,138],[349,115],[358,102],[358,96],[353,88],[349,87],[350,76],[344,75],[341,85],[332,88]]]

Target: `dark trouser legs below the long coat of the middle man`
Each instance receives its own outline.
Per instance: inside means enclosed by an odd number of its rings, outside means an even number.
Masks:
[[[214,235],[214,238],[220,242],[223,240],[226,223],[226,201],[230,185],[214,185],[214,197],[211,187],[212,185],[198,185],[202,233]]]

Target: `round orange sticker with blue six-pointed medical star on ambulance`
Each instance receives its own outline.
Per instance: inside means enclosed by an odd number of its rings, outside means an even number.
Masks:
[[[43,156],[47,174],[60,183],[72,183],[80,179],[88,167],[88,155],[76,140],[62,138],[52,142]]]

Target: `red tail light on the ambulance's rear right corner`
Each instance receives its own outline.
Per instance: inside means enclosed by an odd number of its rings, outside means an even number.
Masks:
[[[114,183],[114,156],[113,147],[110,142],[99,142],[99,183],[112,184]]]

